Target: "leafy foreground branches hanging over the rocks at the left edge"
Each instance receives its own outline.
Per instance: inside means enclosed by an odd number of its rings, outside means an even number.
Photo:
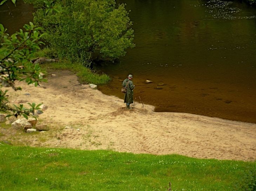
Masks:
[[[40,39],[46,34],[40,35],[40,30],[43,28],[36,27],[32,22],[24,25],[25,32],[20,29],[20,32],[14,33],[12,36],[6,33],[6,30],[2,24],[0,24],[0,76],[2,84],[11,86],[15,91],[21,90],[21,87],[15,86],[15,81],[23,81],[35,86],[39,85],[39,82],[46,81],[40,76],[41,68],[39,64],[31,63],[30,59],[33,58],[34,53],[40,49],[39,45],[43,44]],[[10,115],[18,117],[23,115],[25,118],[33,113],[36,109],[39,109],[39,105],[35,103],[31,105],[30,109],[26,109],[23,105],[13,107],[9,105],[7,90],[2,91],[0,89],[0,110],[9,112]]]

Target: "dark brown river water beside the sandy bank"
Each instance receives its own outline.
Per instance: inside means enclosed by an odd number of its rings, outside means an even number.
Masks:
[[[255,7],[220,0],[119,3],[131,10],[136,47],[115,63],[93,65],[112,77],[99,90],[123,98],[122,81],[133,74],[134,99],[156,112],[256,123]],[[33,18],[32,6],[17,4],[14,18],[0,7],[0,23],[10,33]],[[145,80],[153,82],[145,86]]]

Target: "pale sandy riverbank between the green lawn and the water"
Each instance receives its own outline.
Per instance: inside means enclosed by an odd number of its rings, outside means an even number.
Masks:
[[[127,110],[123,100],[79,84],[69,71],[53,74],[56,75],[48,75],[48,83],[43,84],[46,89],[23,82],[18,83],[22,91],[5,88],[9,89],[12,101],[47,105],[49,108],[40,115],[39,123],[48,123],[50,131],[26,134],[1,128],[4,136],[0,140],[43,147],[256,159],[256,124],[187,113],[156,113],[153,106],[142,108],[139,103],[135,104],[135,110]],[[64,129],[65,126],[73,129]]]

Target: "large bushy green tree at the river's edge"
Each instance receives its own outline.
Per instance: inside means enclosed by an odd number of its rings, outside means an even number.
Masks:
[[[44,38],[59,58],[88,65],[95,59],[124,56],[127,48],[135,46],[128,12],[123,4],[115,8],[115,0],[25,2],[41,5],[34,22],[45,28]]]

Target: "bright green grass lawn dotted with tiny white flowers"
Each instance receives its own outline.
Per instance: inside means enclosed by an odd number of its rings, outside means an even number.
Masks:
[[[0,143],[0,190],[233,190],[253,162]]]

